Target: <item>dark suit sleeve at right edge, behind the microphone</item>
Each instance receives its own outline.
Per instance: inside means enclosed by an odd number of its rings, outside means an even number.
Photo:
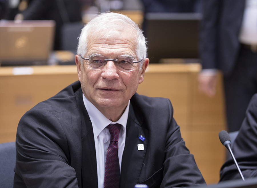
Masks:
[[[249,103],[232,151],[244,178],[257,177],[257,94]],[[230,179],[241,179],[232,159],[226,161],[220,171],[221,181]]]

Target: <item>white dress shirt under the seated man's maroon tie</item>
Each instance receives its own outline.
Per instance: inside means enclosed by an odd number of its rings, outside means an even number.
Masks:
[[[105,160],[108,146],[110,144],[111,135],[109,129],[106,127],[109,124],[119,123],[122,125],[120,134],[119,134],[119,163],[120,163],[120,171],[121,171],[121,159],[123,150],[125,147],[126,140],[126,125],[128,120],[128,110],[130,101],[128,101],[128,105],[121,116],[121,118],[117,122],[112,122],[107,119],[83,94],[84,105],[87,109],[87,113],[92,122],[94,139],[95,139],[95,153],[97,159],[97,179],[98,179],[98,188],[103,188],[104,176],[105,176]]]

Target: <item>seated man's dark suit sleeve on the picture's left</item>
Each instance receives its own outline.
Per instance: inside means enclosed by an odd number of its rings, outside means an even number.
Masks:
[[[56,114],[33,108],[21,118],[16,136],[14,187],[78,187],[60,121],[64,117]]]

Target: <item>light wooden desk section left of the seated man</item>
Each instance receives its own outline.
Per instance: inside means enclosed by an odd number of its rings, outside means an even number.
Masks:
[[[33,70],[31,75],[13,75],[12,67],[0,67],[0,143],[15,141],[17,125],[26,111],[78,80],[76,66]]]

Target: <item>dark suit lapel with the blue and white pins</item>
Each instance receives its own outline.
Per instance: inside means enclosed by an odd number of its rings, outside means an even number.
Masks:
[[[137,119],[130,104],[126,127],[126,143],[122,156],[120,187],[134,187],[138,183],[148,143],[148,130],[142,127],[142,119]],[[139,139],[142,135],[145,140]],[[138,150],[138,144],[144,145],[144,150]]]

